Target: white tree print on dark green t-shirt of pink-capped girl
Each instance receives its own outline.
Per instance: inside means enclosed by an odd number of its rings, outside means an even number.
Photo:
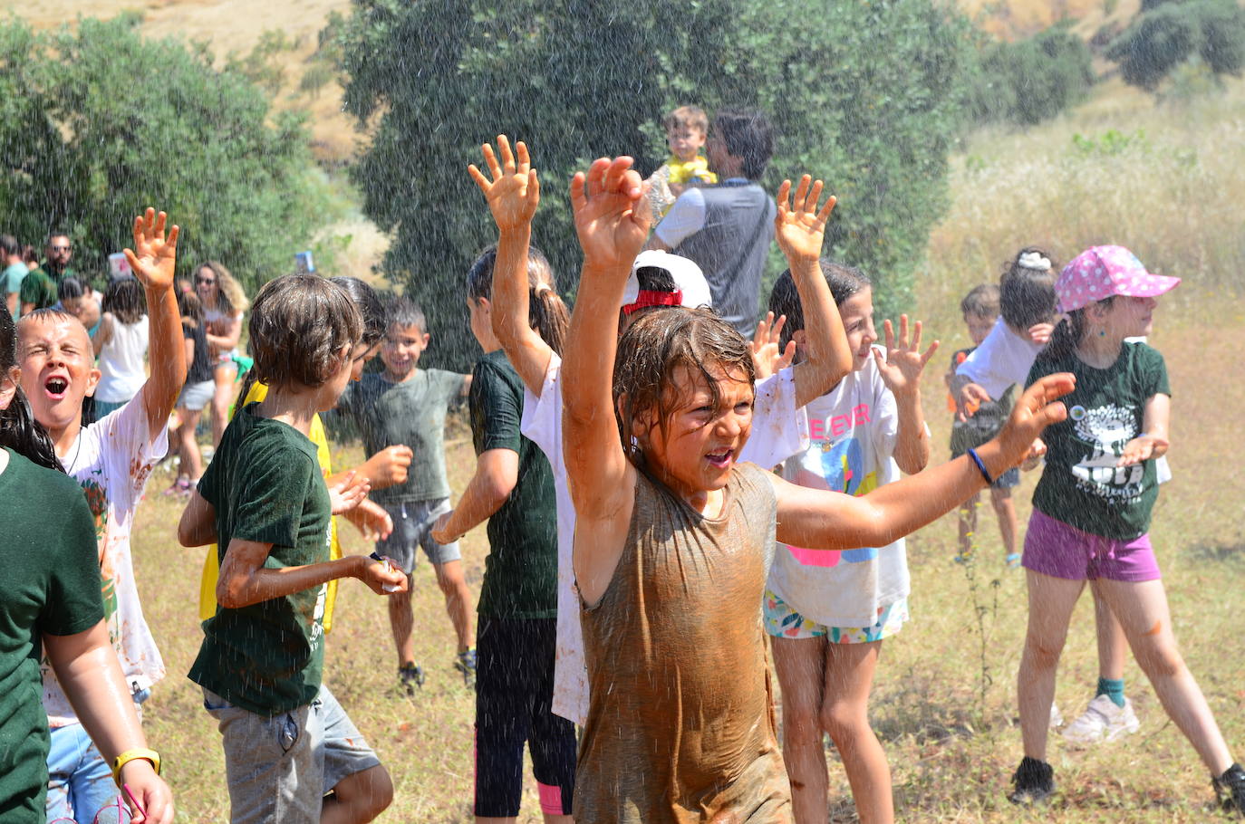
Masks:
[[[1137,437],[1135,411],[1114,403],[1092,410],[1074,406],[1069,410],[1068,417],[1072,418],[1077,437],[1089,444],[1091,449],[1072,466],[1077,487],[1099,498],[1112,498],[1123,503],[1139,499],[1142,478],[1145,474],[1143,464],[1116,466],[1119,456],[1124,454],[1124,444]]]

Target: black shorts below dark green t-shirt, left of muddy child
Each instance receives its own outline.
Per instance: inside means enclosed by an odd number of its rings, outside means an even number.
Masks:
[[[570,815],[575,724],[553,702],[555,619],[479,616],[476,648],[476,815],[514,818],[523,794],[523,743],[548,815]]]

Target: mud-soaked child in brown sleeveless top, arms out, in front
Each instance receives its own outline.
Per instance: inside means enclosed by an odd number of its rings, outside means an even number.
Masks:
[[[630,166],[599,159],[570,192],[584,270],[566,340],[563,447],[593,685],[575,814],[787,822],[757,610],[773,540],[880,546],[929,523],[1025,457],[1062,416],[1062,405],[1046,405],[1071,378],[1032,387],[997,441],[865,497],[737,464],[753,403],[743,337],[705,310],[649,312],[621,339],[611,329],[649,228]],[[808,183],[796,209],[791,182],[779,189],[779,235],[822,233],[829,209],[818,212],[822,187]]]

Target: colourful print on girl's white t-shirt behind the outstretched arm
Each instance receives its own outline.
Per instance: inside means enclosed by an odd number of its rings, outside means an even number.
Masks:
[[[809,417],[808,436],[817,448],[791,458],[801,462],[796,473],[796,483],[801,487],[829,489],[849,495],[865,495],[873,492],[878,487],[878,473],[876,471],[865,473],[864,449],[860,442],[855,437],[839,437],[844,432],[850,432],[853,426],[870,421],[868,403],[860,403],[850,412],[835,414],[832,418]],[[815,454],[818,449],[822,458],[820,466],[809,467],[809,456]],[[845,551],[813,550],[791,545],[788,549],[796,560],[804,566],[838,566],[840,560],[848,564],[862,564],[878,556],[878,550],[873,546]]]

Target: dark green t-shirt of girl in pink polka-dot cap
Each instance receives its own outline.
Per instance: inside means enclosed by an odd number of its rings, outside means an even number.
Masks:
[[[1068,417],[1046,429],[1046,469],[1033,490],[1033,507],[1081,531],[1132,540],[1150,528],[1159,488],[1154,461],[1116,467],[1124,444],[1144,432],[1145,403],[1172,395],[1163,356],[1145,344],[1124,344],[1108,368],[1076,355],[1038,358],[1028,383],[1072,372],[1077,387],[1066,396]]]

